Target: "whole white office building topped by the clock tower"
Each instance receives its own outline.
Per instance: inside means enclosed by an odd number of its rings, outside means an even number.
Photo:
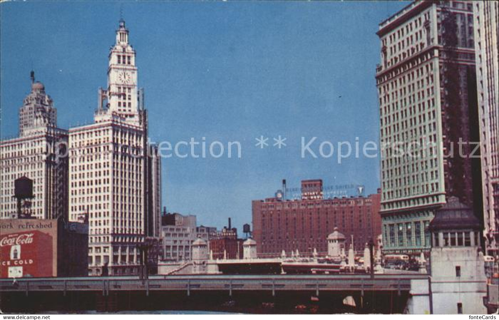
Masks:
[[[69,217],[88,216],[90,275],[137,274],[140,246],[160,232],[160,158],[147,142],[135,50],[120,20],[95,121],[69,130]]]

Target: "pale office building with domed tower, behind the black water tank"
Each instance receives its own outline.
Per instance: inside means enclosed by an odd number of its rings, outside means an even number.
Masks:
[[[14,180],[33,181],[33,199],[22,202],[23,212],[38,219],[67,215],[66,130],[57,128],[57,110],[34,79],[19,109],[19,136],[0,142],[0,218],[17,217]]]

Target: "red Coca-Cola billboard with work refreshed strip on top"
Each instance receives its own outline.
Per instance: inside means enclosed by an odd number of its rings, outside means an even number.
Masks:
[[[55,220],[0,220],[0,278],[56,276]]]

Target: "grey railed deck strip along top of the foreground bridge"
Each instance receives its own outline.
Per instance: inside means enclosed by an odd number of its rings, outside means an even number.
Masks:
[[[1,279],[2,292],[36,291],[409,291],[421,274],[375,275],[268,275],[268,276],[150,276]]]

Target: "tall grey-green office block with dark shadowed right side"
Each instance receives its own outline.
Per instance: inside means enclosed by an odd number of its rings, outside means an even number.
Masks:
[[[447,197],[482,211],[473,2],[415,1],[377,34],[384,251],[427,253]]]

